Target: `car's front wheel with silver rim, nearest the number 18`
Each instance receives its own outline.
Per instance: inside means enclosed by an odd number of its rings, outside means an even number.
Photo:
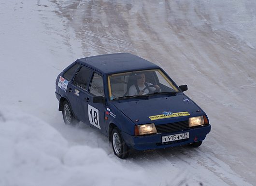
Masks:
[[[114,155],[121,159],[127,159],[130,153],[130,148],[126,145],[121,132],[116,127],[111,133],[111,142]]]

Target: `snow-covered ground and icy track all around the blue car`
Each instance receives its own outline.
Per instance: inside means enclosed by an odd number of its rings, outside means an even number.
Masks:
[[[254,0],[1,0],[0,186],[256,183]],[[129,52],[162,66],[208,114],[197,149],[114,156],[64,125],[55,80],[78,58]]]

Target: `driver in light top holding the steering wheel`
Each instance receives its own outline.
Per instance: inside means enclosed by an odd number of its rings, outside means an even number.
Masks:
[[[136,76],[136,83],[131,85],[129,88],[128,95],[145,95],[150,92],[160,91],[160,87],[158,85],[153,85],[151,83],[145,82],[145,74],[139,73]]]

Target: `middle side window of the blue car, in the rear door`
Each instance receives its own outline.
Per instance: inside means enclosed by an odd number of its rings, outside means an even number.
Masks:
[[[76,74],[73,83],[82,89],[86,90],[88,81],[91,77],[92,70],[84,66]]]

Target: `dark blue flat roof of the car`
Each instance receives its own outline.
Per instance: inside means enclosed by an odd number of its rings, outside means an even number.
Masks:
[[[154,63],[131,53],[96,55],[78,59],[76,62],[89,66],[102,74],[159,68]]]

